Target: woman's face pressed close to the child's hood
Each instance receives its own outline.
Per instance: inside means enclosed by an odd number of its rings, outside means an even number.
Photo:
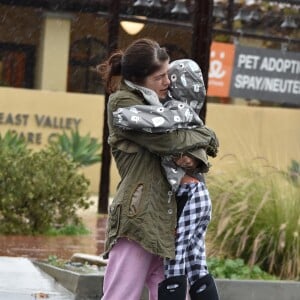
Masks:
[[[153,90],[158,98],[164,99],[167,96],[170,80],[168,78],[169,61],[167,60],[161,68],[153,74],[146,77],[143,84],[144,87]]]

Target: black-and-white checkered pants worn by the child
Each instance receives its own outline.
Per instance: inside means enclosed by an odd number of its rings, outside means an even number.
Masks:
[[[179,217],[175,259],[165,259],[165,276],[187,275],[189,284],[208,273],[205,233],[211,218],[211,200],[205,183],[180,185],[177,196],[187,196]]]

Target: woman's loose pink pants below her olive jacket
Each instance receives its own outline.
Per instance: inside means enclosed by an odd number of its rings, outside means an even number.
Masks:
[[[139,244],[120,238],[109,252],[102,300],[140,300],[143,288],[157,300],[158,283],[164,280],[163,259]]]

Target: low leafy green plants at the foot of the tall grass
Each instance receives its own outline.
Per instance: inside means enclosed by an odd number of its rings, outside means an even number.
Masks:
[[[226,279],[257,279],[257,280],[275,280],[272,276],[261,270],[258,266],[250,267],[242,259],[224,259],[212,257],[207,259],[209,272],[215,278]]]

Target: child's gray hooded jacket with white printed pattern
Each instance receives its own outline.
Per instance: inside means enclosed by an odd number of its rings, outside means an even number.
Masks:
[[[150,105],[135,105],[118,109],[113,113],[114,124],[123,129],[149,133],[204,126],[199,113],[204,103],[206,90],[199,66],[193,60],[180,59],[170,64],[168,73],[171,84],[164,103],[159,101],[152,90],[125,81],[131,88],[139,90]],[[210,164],[207,154],[213,157],[217,154],[218,140],[215,133],[212,130],[210,132],[214,146],[207,145],[197,150],[197,158],[201,157],[199,168],[196,173],[189,175],[199,177],[198,173],[208,172]],[[193,156],[192,152],[189,154]],[[187,170],[176,166],[172,156],[162,157],[162,166],[175,191]]]

